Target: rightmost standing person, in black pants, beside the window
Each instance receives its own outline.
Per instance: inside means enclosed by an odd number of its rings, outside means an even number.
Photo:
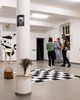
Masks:
[[[63,39],[63,46],[62,46],[63,64],[61,65],[61,67],[65,67],[67,63],[68,64],[67,67],[69,68],[71,67],[69,59],[67,58],[67,50],[69,48],[69,42],[64,34],[62,35],[62,39]]]

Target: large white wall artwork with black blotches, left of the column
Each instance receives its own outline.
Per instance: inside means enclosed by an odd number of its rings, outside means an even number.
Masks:
[[[16,60],[16,33],[15,32],[4,32],[2,35],[2,50],[5,48],[12,49],[12,59]],[[10,56],[10,53],[7,53]]]

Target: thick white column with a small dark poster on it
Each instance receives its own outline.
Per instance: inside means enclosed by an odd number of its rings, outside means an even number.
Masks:
[[[17,60],[30,58],[30,0],[17,0]],[[24,19],[24,23],[21,23]]]

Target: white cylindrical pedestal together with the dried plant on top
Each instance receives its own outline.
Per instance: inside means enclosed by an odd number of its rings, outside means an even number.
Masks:
[[[19,63],[24,70],[23,74],[17,73],[15,76],[15,93],[16,94],[29,94],[32,91],[31,74],[26,73],[29,65],[32,65],[32,61],[28,58],[23,58]]]

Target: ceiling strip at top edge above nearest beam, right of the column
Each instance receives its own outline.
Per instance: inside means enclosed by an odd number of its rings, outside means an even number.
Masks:
[[[31,3],[80,11],[80,2],[70,2],[70,0],[31,0]]]

